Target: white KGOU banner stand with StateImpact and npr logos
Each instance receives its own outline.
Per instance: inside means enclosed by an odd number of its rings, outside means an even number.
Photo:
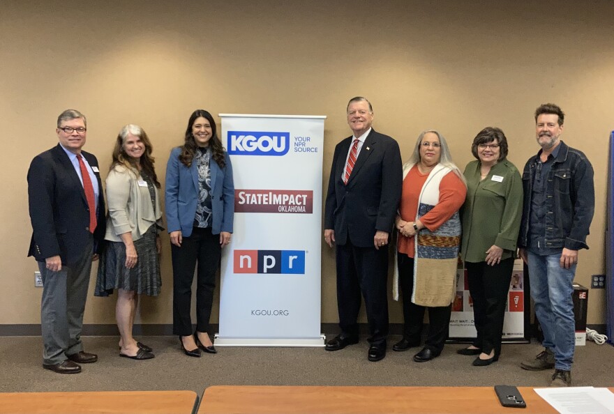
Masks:
[[[234,176],[216,346],[324,346],[320,332],[326,116],[220,114]]]

